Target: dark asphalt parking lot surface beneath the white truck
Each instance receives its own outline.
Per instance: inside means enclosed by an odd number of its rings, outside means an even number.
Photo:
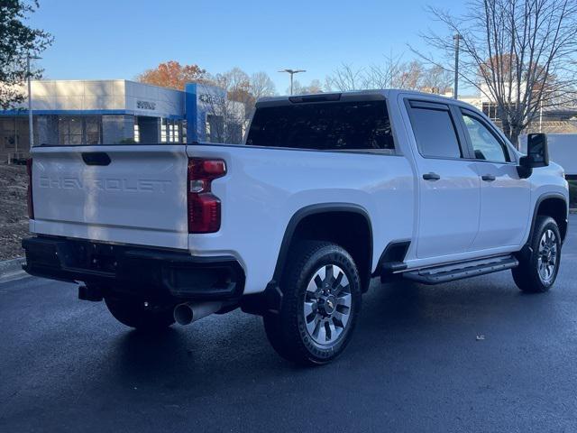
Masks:
[[[574,231],[542,295],[509,272],[373,281],[352,344],[319,368],[280,359],[240,311],[144,336],[76,296],[0,284],[0,431],[577,431]]]

